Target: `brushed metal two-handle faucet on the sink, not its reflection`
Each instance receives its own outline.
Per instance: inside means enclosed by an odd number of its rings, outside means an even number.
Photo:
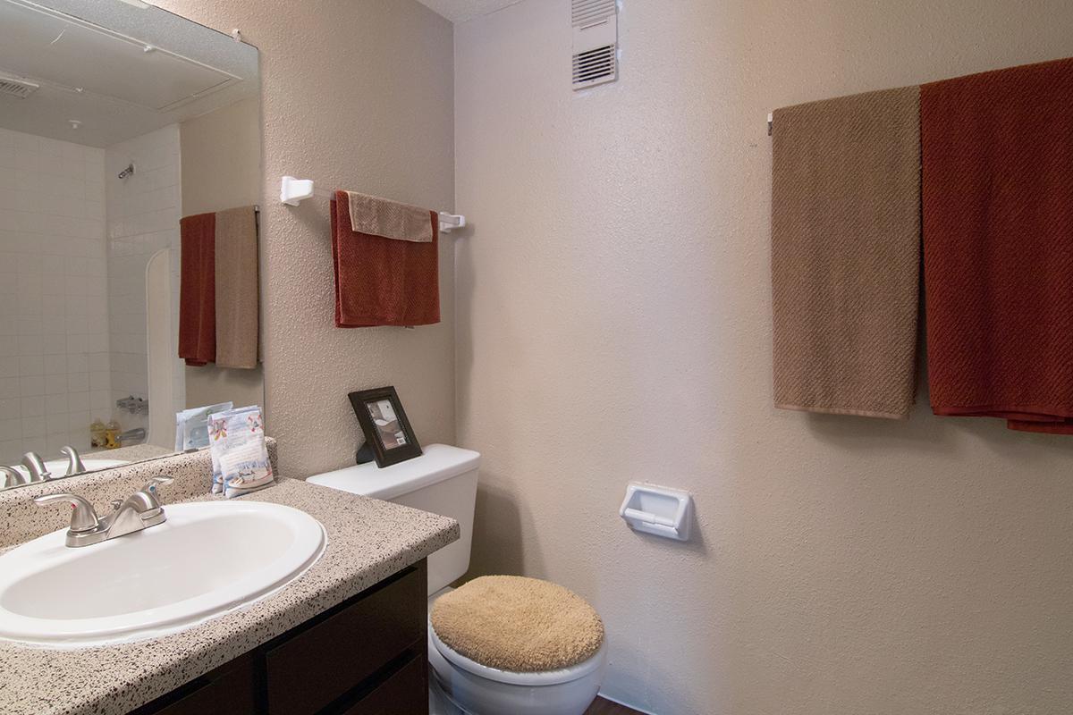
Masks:
[[[157,487],[170,483],[172,477],[153,477],[126,500],[112,502],[112,512],[105,517],[98,517],[93,505],[76,494],[47,494],[34,497],[33,502],[40,505],[69,503],[72,511],[67,545],[88,547],[164,523],[167,517],[157,500]]]

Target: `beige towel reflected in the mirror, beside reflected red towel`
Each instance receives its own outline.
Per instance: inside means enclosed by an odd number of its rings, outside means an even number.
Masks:
[[[258,220],[252,206],[216,214],[216,363],[258,367]]]

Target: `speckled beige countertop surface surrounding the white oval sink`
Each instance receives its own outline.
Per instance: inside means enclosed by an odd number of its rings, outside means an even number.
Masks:
[[[214,498],[220,497],[188,501]],[[459,534],[458,523],[446,517],[294,479],[240,498],[285,504],[317,518],[328,535],[320,561],[268,598],[164,638],[72,651],[0,641],[0,713],[126,713],[418,562]]]

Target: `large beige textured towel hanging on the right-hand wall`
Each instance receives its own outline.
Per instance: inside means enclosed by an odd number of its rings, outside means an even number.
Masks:
[[[920,200],[918,87],[776,110],[776,407],[909,415]]]

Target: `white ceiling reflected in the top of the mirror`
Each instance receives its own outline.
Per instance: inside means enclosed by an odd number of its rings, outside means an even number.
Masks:
[[[41,87],[0,95],[0,126],[94,147],[259,91],[255,48],[119,0],[0,0],[0,75]]]

